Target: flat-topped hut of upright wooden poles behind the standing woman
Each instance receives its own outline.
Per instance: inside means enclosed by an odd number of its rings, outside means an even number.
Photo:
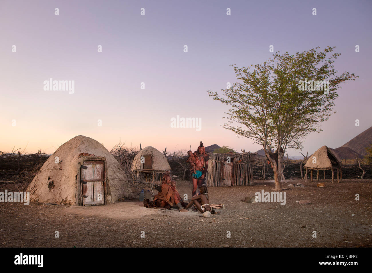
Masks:
[[[208,187],[254,185],[252,155],[250,152],[210,154],[206,185]]]

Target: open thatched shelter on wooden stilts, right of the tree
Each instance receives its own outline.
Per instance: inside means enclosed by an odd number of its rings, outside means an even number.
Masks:
[[[305,164],[305,181],[307,181],[307,170],[310,172],[310,181],[312,182],[312,170],[317,170],[317,181],[319,181],[319,171],[323,170],[323,177],[325,178],[325,171],[332,170],[332,183],[334,181],[334,170],[337,170],[337,183],[342,179],[342,168],[339,157],[333,149],[327,146],[320,147]]]

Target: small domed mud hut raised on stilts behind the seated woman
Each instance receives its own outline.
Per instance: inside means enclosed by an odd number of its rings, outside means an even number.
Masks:
[[[154,147],[142,149],[133,159],[132,172],[144,173],[154,183],[160,173],[171,172],[167,158]]]

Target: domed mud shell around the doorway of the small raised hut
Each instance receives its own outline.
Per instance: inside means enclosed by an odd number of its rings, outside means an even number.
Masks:
[[[143,170],[141,163],[141,156],[152,155],[153,157],[153,170],[170,170],[167,158],[154,147],[148,146],[142,149],[133,159],[132,171]]]

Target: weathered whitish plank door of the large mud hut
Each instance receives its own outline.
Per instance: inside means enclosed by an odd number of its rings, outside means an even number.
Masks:
[[[83,169],[83,205],[104,204],[105,163],[103,161],[84,161],[83,165],[87,167],[87,169]]]

